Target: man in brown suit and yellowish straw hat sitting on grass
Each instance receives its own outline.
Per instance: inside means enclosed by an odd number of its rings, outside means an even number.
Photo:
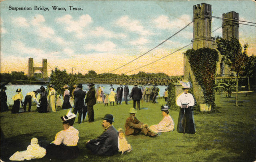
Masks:
[[[158,133],[153,133],[147,124],[141,123],[136,117],[137,111],[134,108],[130,108],[130,117],[125,122],[125,135],[138,135],[142,132],[144,135],[149,137],[156,137]]]

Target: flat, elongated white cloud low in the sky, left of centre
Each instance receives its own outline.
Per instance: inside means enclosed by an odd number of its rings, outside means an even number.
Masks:
[[[86,51],[95,50],[95,51],[100,51],[100,52],[115,51],[116,50],[115,47],[116,47],[116,45],[111,41],[106,41],[104,43],[100,43],[97,45],[93,45],[93,44],[84,45],[84,49]]]

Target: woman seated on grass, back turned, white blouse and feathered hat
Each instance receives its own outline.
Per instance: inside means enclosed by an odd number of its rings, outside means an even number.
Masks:
[[[73,127],[76,115],[68,111],[68,114],[60,117],[64,130],[58,132],[55,140],[46,146],[46,156],[50,159],[74,159],[79,154],[77,146],[78,130]]]

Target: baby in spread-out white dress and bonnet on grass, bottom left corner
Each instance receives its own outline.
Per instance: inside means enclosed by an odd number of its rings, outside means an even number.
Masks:
[[[34,158],[42,158],[46,154],[46,149],[39,146],[38,139],[32,138],[27,150],[15,152],[9,159],[13,161],[31,160]]]

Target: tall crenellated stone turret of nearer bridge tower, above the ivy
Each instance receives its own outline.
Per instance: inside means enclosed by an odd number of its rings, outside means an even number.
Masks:
[[[213,48],[212,38],[212,5],[201,3],[193,6],[193,39],[192,48]]]

